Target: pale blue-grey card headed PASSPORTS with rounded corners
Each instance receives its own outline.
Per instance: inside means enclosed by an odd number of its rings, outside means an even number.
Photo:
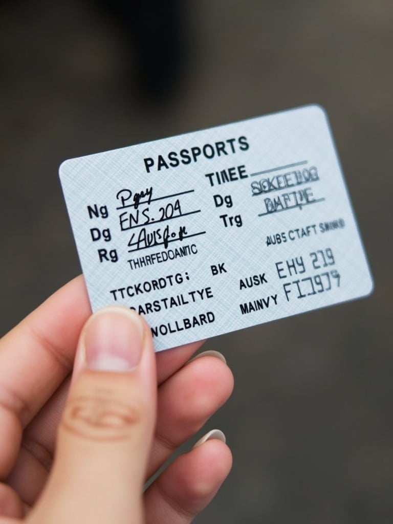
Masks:
[[[136,309],[156,351],[372,291],[319,106],[66,160],[60,178],[93,311]]]

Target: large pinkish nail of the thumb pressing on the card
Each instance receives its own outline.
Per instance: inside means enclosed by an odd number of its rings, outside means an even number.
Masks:
[[[90,369],[129,371],[140,361],[143,324],[133,310],[110,307],[97,311],[82,337],[84,360]]]

